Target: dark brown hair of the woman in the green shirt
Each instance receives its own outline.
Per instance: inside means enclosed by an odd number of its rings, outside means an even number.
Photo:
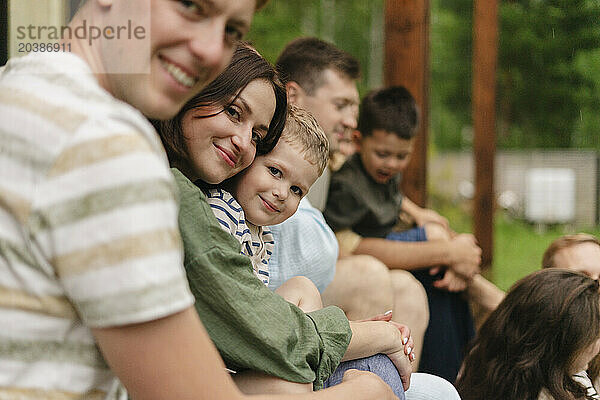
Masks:
[[[231,62],[214,81],[188,101],[179,113],[167,121],[152,121],[163,142],[171,165],[187,165],[188,154],[184,142],[182,121],[184,115],[199,107],[218,106],[223,112],[232,104],[248,84],[256,79],[267,81],[275,95],[275,113],[265,137],[256,145],[257,154],[268,153],[275,147],[285,125],[287,95],[275,68],[256,50],[240,44],[233,53]],[[208,115],[209,118],[215,114]]]

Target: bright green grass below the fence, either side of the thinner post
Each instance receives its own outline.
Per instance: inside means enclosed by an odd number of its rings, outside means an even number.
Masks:
[[[469,204],[457,205],[433,196],[430,204],[448,218],[457,232],[472,231]],[[598,227],[556,225],[541,230],[533,224],[509,217],[504,211],[498,211],[494,220],[493,265],[491,271],[486,271],[484,275],[501,289],[507,290],[517,280],[540,268],[542,254],[550,242],[559,236],[575,232],[600,236]]]

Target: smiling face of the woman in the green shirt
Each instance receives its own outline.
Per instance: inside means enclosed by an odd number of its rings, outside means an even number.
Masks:
[[[182,128],[192,178],[217,184],[248,167],[274,113],[273,88],[262,79],[250,82],[224,110],[215,106],[188,111]]]

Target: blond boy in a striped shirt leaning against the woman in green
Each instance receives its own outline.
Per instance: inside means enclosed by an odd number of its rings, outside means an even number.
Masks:
[[[221,228],[242,245],[254,273],[269,284],[269,258],[275,242],[269,225],[280,224],[298,209],[300,200],[323,173],[329,144],[307,111],[290,105],[285,128],[273,150],[258,155],[252,165],[210,189],[208,201]],[[305,312],[322,307],[318,289],[304,277],[294,277],[277,290]]]

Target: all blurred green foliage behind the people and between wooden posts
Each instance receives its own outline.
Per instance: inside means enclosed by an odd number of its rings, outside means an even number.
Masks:
[[[430,4],[430,137],[469,148],[473,0]],[[272,0],[249,39],[272,62],[296,37],[331,41],[360,61],[362,95],[383,81],[383,6]],[[600,0],[505,0],[499,11],[498,147],[600,150]]]

